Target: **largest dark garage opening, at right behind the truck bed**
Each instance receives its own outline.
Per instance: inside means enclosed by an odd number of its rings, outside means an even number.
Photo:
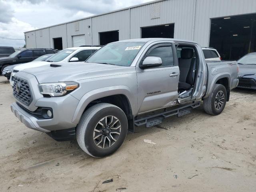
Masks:
[[[210,47],[223,60],[238,60],[256,51],[256,14],[230,16],[211,20]]]

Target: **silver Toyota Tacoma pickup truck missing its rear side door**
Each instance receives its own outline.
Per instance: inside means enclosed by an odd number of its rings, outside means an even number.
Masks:
[[[113,42],[86,62],[51,63],[14,76],[11,105],[28,128],[76,138],[94,157],[115,152],[135,126],[160,124],[200,106],[218,115],[238,85],[236,62],[207,62],[186,40]]]

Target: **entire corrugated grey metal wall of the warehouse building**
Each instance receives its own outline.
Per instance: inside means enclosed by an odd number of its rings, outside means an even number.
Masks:
[[[160,4],[160,18],[152,19],[152,6],[156,4]],[[26,45],[53,48],[52,38],[62,37],[63,48],[67,48],[72,47],[72,36],[81,34],[85,34],[86,44],[99,44],[99,32],[112,30],[119,30],[119,40],[140,38],[142,27],[174,23],[174,38],[208,46],[211,18],[250,13],[256,13],[256,0],[165,0],[52,26],[43,30],[42,37],[38,36],[40,30],[36,30],[36,36],[31,35],[34,31],[26,32],[30,36],[26,37]],[[44,36],[47,30],[49,40]]]

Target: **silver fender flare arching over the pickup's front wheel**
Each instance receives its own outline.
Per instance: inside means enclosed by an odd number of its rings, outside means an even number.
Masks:
[[[118,94],[122,94],[126,96],[126,98],[128,99],[128,102],[130,103],[132,114],[136,114],[137,105],[135,103],[136,101],[133,99],[134,95],[132,94],[130,88],[128,86],[109,86],[109,87],[95,89],[84,94],[84,96],[82,96],[82,98],[78,102],[72,122],[78,124],[85,108],[88,106],[90,102],[102,97],[118,95]]]

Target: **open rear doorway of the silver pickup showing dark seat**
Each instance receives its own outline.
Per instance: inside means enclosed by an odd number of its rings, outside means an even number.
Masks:
[[[177,55],[180,68],[180,79],[178,84],[179,97],[192,96],[196,77],[196,49],[193,46],[178,45]]]

